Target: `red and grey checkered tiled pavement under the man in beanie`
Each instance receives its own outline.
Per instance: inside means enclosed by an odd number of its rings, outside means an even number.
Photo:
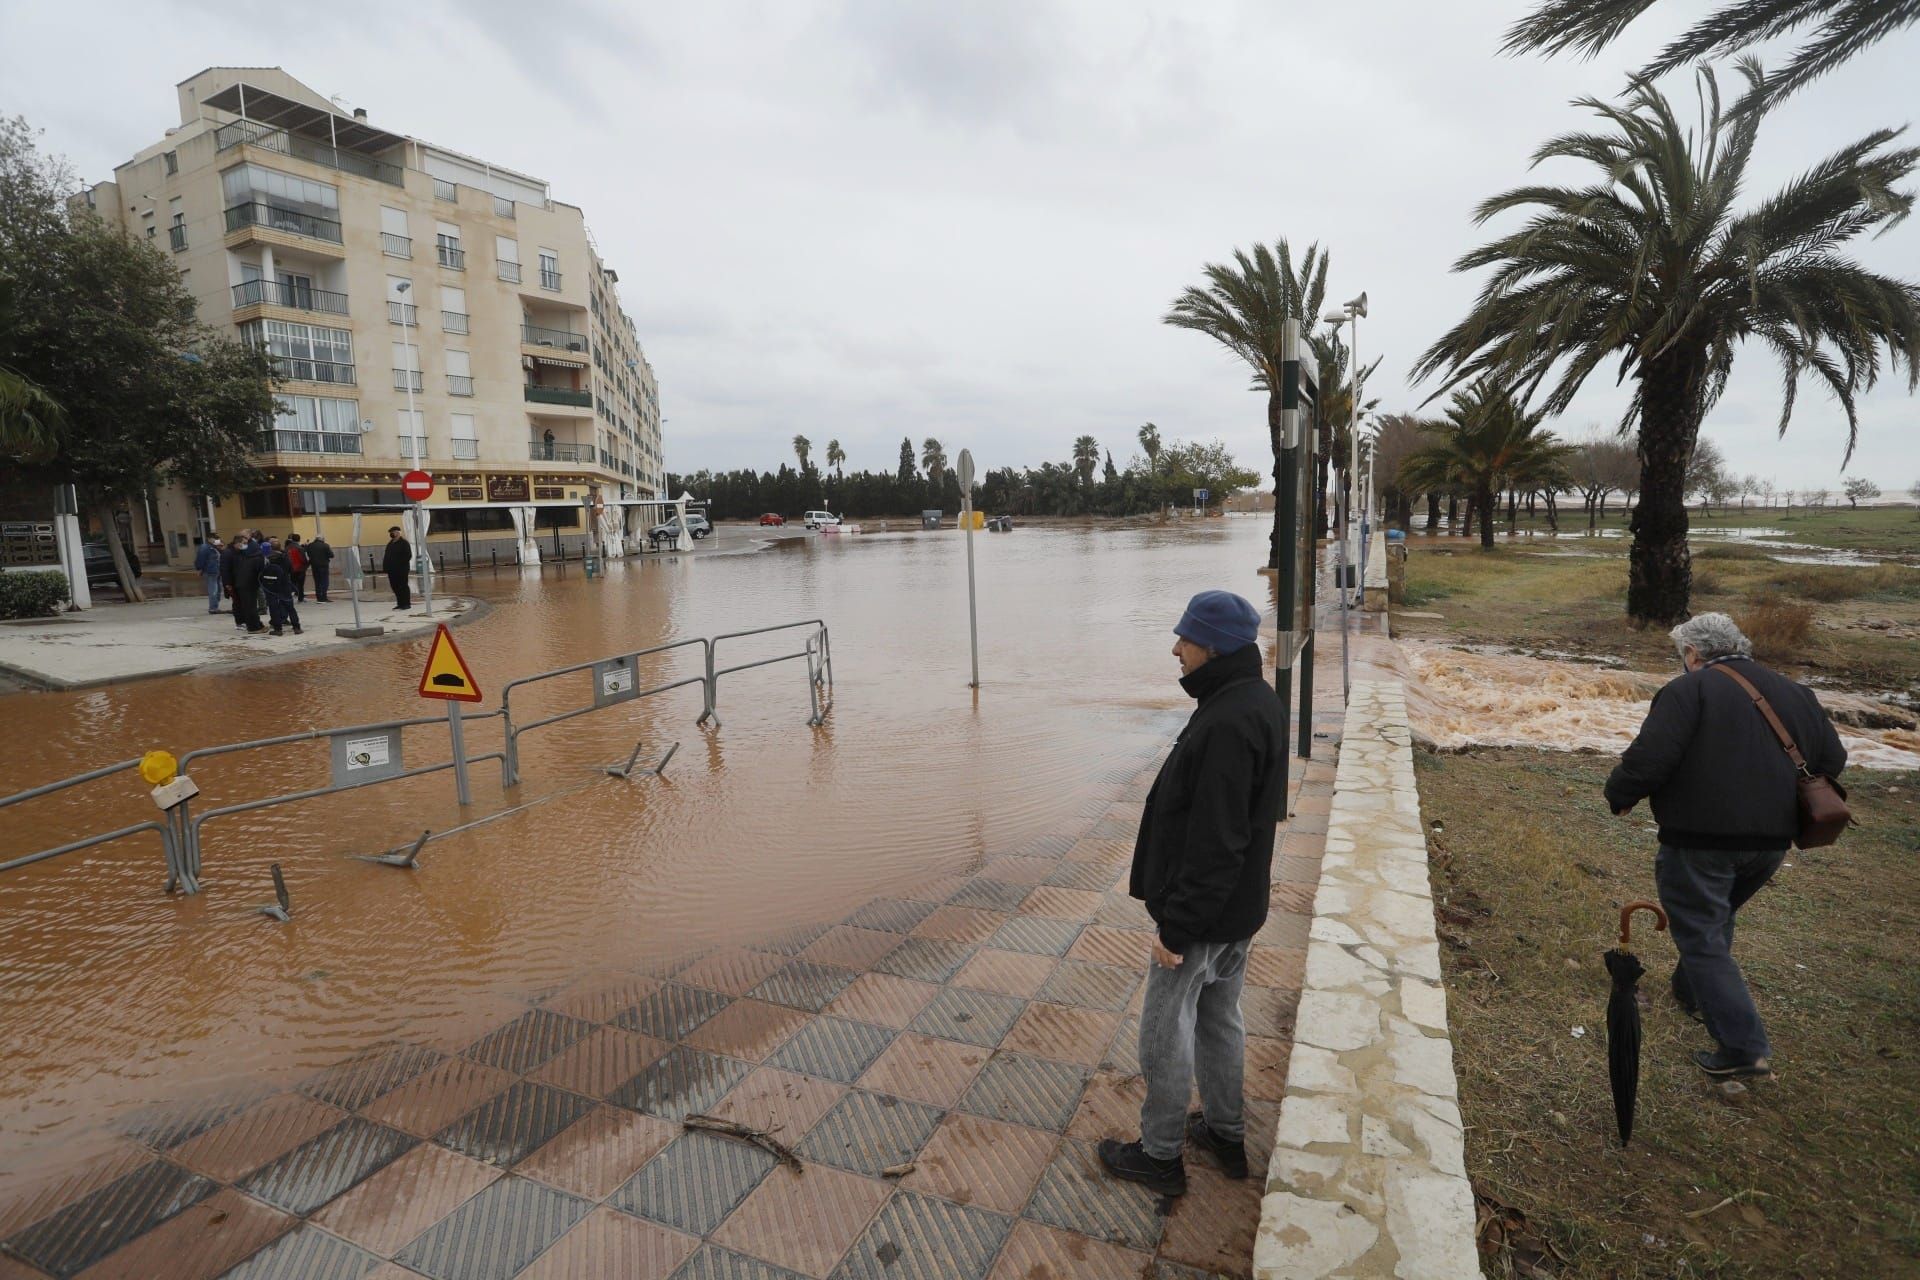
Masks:
[[[134,1125],[0,1203],[0,1280],[1244,1276],[1332,794],[1321,745],[1248,965],[1244,1182],[1190,1157],[1162,1203],[1092,1155],[1139,1128],[1150,925],[1125,877],[1156,760],[1106,783],[1077,841],[582,977],[453,1055],[394,1042]],[[803,1173],[682,1130],[699,1111],[772,1132]]]

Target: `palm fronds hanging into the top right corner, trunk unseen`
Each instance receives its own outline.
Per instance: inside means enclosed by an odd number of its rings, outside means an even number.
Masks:
[[[1592,58],[1651,8],[1653,0],[1544,0],[1507,29],[1501,48],[1509,54],[1544,48],[1549,56],[1571,48]],[[1653,81],[1816,25],[1812,38],[1768,81],[1766,98],[1778,100],[1916,21],[1914,0],[1728,0],[1668,42],[1640,79]]]

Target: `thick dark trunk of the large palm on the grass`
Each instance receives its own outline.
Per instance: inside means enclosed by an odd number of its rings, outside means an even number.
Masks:
[[[1628,528],[1626,616],[1634,626],[1684,622],[1693,591],[1686,466],[1699,436],[1705,353],[1674,349],[1640,370],[1640,501]]]

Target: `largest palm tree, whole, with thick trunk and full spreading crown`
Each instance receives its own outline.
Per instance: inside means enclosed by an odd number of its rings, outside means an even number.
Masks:
[[[1749,98],[1764,86],[1741,61]],[[1726,388],[1734,345],[1764,344],[1786,372],[1780,430],[1801,374],[1814,372],[1847,413],[1847,457],[1859,434],[1855,395],[1880,376],[1880,347],[1907,386],[1920,386],[1920,288],[1866,271],[1843,246],[1907,217],[1897,190],[1920,152],[1889,150],[1882,129],[1841,148],[1770,200],[1734,211],[1763,109],[1720,109],[1701,81],[1701,136],[1649,83],[1624,106],[1580,100],[1605,132],[1555,138],[1534,154],[1599,169],[1590,186],[1523,186],[1476,211],[1484,223],[1530,209],[1519,230],[1461,257],[1494,267],[1473,311],[1413,367],[1444,372],[1442,391],[1494,376],[1530,399],[1559,370],[1542,409],[1561,413],[1603,361],[1634,380],[1620,426],[1636,432],[1640,503],[1628,558],[1626,612],[1636,624],[1688,616],[1686,464],[1701,418]]]

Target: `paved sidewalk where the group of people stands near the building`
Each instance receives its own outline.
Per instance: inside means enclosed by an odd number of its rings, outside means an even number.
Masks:
[[[394,597],[361,597],[361,622],[386,628],[386,637],[422,631],[436,622],[457,622],[476,601],[436,595],[434,616],[415,595],[413,610],[394,608]],[[234,628],[223,606],[207,612],[207,597],[196,593],[142,604],[96,604],[90,610],[56,618],[25,618],[0,624],[0,672],[42,689],[84,689],[150,676],[177,676],[202,666],[232,666],[284,654],[313,654],[348,649],[367,641],[342,639],[334,628],[353,626],[353,604],[336,591],[326,604],[307,599],[298,604],[303,635],[246,633]],[[261,624],[267,616],[261,614]],[[384,637],[382,637],[384,639]]]

